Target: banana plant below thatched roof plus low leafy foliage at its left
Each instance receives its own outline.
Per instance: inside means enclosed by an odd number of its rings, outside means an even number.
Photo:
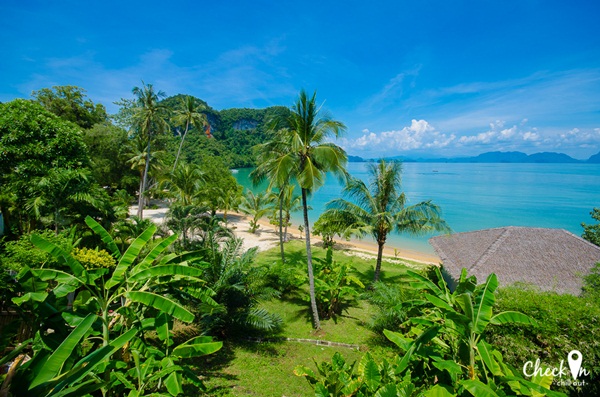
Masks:
[[[408,272],[411,285],[421,291],[421,315],[410,318],[405,334],[385,331],[400,353],[394,360],[377,362],[367,354],[357,368],[335,355],[331,363],[317,365],[319,374],[299,366],[296,375],[313,385],[315,395],[329,396],[505,396],[512,394],[561,396],[549,386],[552,376],[525,379],[506,364],[502,355],[483,337],[488,325],[536,324],[514,311],[494,313],[496,276],[486,282],[463,272],[450,292],[437,270],[437,283]]]

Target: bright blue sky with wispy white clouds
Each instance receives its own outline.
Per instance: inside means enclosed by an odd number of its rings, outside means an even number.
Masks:
[[[317,90],[365,157],[600,151],[600,2],[0,2],[0,101],[141,81],[215,109]]]

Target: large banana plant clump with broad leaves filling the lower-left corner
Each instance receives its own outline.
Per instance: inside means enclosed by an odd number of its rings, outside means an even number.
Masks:
[[[210,293],[202,293],[208,290],[199,278],[203,272],[198,258],[167,253],[176,235],[145,250],[156,231],[154,225],[122,253],[99,223],[92,218],[86,223],[102,238],[108,250],[103,257],[112,259],[112,266],[86,269],[77,259],[81,254],[72,255],[40,236],[31,237],[36,247],[68,271],[24,268],[18,276],[25,293],[13,301],[30,309],[36,329],[32,340],[2,360],[15,359],[30,349],[31,360],[16,360],[11,393],[175,396],[182,393],[183,378],[201,386],[183,360],[214,353],[221,343],[197,337],[175,346],[170,336],[173,319],[194,320],[172,293],[181,283],[189,285],[188,295],[215,305]],[[90,257],[89,252],[84,255]],[[158,341],[151,343],[153,332]]]

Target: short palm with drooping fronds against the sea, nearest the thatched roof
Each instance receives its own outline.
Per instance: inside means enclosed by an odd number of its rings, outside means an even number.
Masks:
[[[440,208],[431,200],[407,206],[402,188],[402,164],[380,160],[368,166],[369,185],[349,178],[343,193],[354,202],[337,199],[327,204],[321,219],[336,230],[357,236],[370,234],[377,241],[374,282],[379,280],[383,247],[391,231],[421,235],[431,231],[450,232]]]

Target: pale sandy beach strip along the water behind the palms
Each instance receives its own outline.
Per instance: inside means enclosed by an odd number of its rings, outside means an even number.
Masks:
[[[163,204],[159,204],[159,208],[156,209],[145,209],[144,218],[152,219],[157,224],[161,224],[164,221],[164,217],[168,211],[168,208]],[[135,215],[137,213],[137,206],[129,208],[129,213]],[[219,213],[223,216],[222,213]],[[244,248],[250,249],[257,247],[259,251],[265,251],[279,244],[279,235],[277,234],[277,227],[271,225],[269,220],[263,218],[259,221],[260,227],[255,233],[250,233],[250,217],[236,213],[227,213],[227,225],[230,227],[236,236],[244,240]],[[297,227],[288,228],[288,235],[291,239],[304,239],[304,233],[301,233]],[[321,237],[312,236],[311,242],[321,242]],[[376,258],[377,257],[377,244],[370,238],[366,237],[364,240],[338,240],[336,239],[336,248],[347,250],[346,252],[350,255],[357,255],[364,258]],[[393,246],[386,246],[384,249],[384,257],[386,262],[400,262],[404,260],[410,260],[414,262],[428,263],[428,264],[439,264],[440,258],[418,251],[411,251],[402,249],[399,252],[394,251]],[[396,247],[397,248],[397,247]]]

